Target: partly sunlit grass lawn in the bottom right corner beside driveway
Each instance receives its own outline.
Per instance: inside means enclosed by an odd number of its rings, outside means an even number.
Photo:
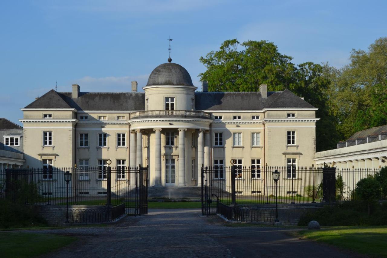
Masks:
[[[330,227],[320,230],[301,230],[299,234],[308,239],[372,257],[387,257],[387,226]]]

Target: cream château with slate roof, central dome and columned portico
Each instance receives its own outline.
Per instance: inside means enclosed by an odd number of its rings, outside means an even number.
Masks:
[[[82,92],[77,84],[48,91],[22,108],[25,165],[149,165],[149,186],[200,186],[202,164],[221,168],[231,159],[254,168],[312,165],[317,108],[266,85],[259,92],[207,88],[204,82],[197,92],[187,70],[168,62],[151,72],[144,92],[137,82],[131,92]]]

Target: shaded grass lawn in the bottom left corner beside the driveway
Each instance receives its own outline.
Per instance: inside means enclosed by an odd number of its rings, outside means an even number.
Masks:
[[[0,232],[3,258],[35,257],[55,251],[75,241],[75,237],[51,234]]]

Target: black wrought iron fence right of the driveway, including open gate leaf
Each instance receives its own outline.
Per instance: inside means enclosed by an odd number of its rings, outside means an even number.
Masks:
[[[320,203],[353,200],[356,183],[380,169],[338,169],[332,167],[205,167],[202,169],[202,213],[217,213],[224,205],[278,203]],[[226,210],[224,207],[222,208]],[[227,217],[227,213],[225,213]]]

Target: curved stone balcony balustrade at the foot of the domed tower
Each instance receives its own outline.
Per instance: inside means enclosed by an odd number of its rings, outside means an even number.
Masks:
[[[212,119],[211,114],[204,111],[192,111],[192,110],[149,110],[139,111],[130,114],[130,119],[141,119],[141,118],[202,118]]]

